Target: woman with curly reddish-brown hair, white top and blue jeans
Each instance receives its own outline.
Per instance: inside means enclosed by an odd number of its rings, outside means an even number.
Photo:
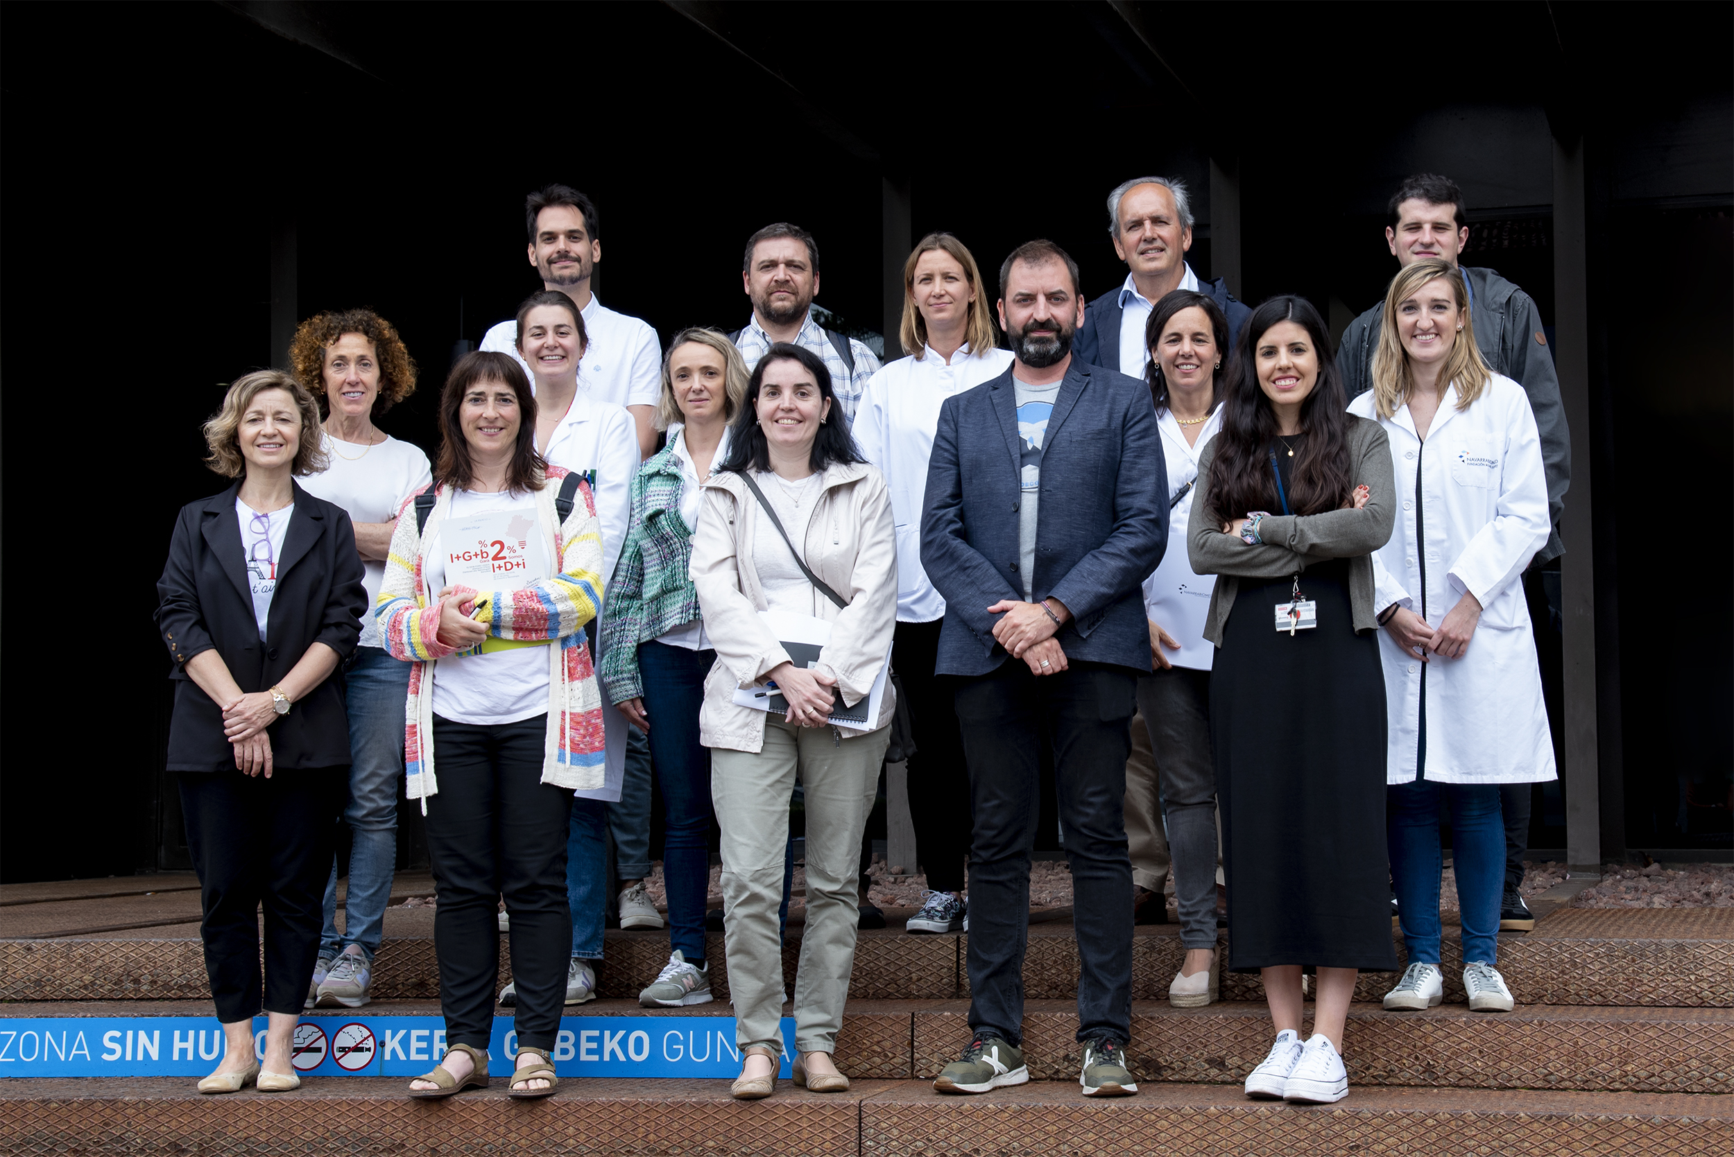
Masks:
[[[368,1003],[373,958],[380,951],[385,904],[397,868],[397,779],[404,774],[404,700],[409,663],[380,643],[373,604],[385,577],[385,554],[397,511],[432,482],[428,456],[383,433],[373,419],[416,388],[416,364],[402,338],[373,310],[319,313],[302,322],[290,345],[295,376],[324,416],[321,449],[329,466],[303,488],[342,506],[355,527],[366,570],[368,611],[361,643],[343,667],[349,686],[349,798],[343,819],[352,838],[343,932],[336,930],[336,863],[324,894],[324,935],[307,989],[307,1006],[359,1008]]]

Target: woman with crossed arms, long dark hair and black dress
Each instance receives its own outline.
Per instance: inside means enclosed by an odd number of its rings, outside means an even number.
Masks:
[[[1359,968],[1392,970],[1385,710],[1372,553],[1394,482],[1379,423],[1344,412],[1325,320],[1273,298],[1240,334],[1222,431],[1198,461],[1193,570],[1217,575],[1203,636],[1228,869],[1228,966],[1259,970],[1276,1043],[1247,1095],[1347,1095]],[[1300,973],[1318,968],[1300,1041]]]

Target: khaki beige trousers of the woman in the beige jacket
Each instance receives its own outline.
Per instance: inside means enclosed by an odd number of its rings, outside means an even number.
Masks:
[[[766,715],[763,750],[711,748],[711,800],[723,854],[723,944],[739,1048],[766,1044],[782,1053],[777,909],[796,776],[806,797],[806,930],[794,980],[794,1046],[803,1053],[836,1046],[860,925],[862,828],[890,741],[890,726],[839,741],[831,727],[796,727],[782,715]]]

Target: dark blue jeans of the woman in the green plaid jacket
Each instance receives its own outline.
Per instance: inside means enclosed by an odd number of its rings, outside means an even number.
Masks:
[[[662,882],[669,946],[692,963],[704,961],[704,897],[711,890],[711,752],[699,743],[699,708],[704,675],[714,663],[716,651],[688,651],[654,639],[638,644],[650,757],[666,812]],[[621,795],[624,802],[624,792]],[[614,838],[619,847],[619,835]],[[626,868],[621,876],[631,878]]]

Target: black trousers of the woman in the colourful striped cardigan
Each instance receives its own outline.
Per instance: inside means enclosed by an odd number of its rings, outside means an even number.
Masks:
[[[434,953],[446,1041],[487,1048],[499,972],[499,901],[512,913],[518,1044],[560,1032],[572,911],[565,837],[572,793],[541,781],[548,717],[477,726],[434,717],[428,861],[439,892]]]

